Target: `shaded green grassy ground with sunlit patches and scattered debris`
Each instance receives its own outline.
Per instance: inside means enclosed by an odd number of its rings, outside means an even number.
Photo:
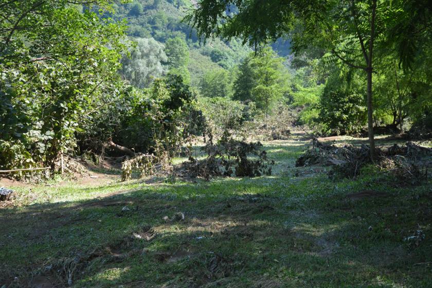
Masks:
[[[432,287],[432,183],[332,181],[309,144],[265,142],[272,176],[14,187],[0,287]]]

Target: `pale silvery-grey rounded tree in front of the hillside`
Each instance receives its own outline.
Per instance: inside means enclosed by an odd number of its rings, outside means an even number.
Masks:
[[[135,42],[136,48],[132,50],[131,57],[123,57],[121,61],[121,73],[134,86],[145,88],[164,73],[162,63],[167,61],[167,56],[164,45],[153,38],[138,38]]]

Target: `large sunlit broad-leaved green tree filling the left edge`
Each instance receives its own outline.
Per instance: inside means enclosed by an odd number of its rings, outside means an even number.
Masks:
[[[99,19],[91,9],[81,12],[74,3],[111,9],[107,1],[88,0],[0,5],[1,14],[9,15],[0,22],[0,102],[7,105],[0,122],[12,125],[0,127],[1,146],[12,152],[0,159],[6,169],[53,168],[60,154],[74,149],[79,123],[95,103],[119,93],[125,26]]]

